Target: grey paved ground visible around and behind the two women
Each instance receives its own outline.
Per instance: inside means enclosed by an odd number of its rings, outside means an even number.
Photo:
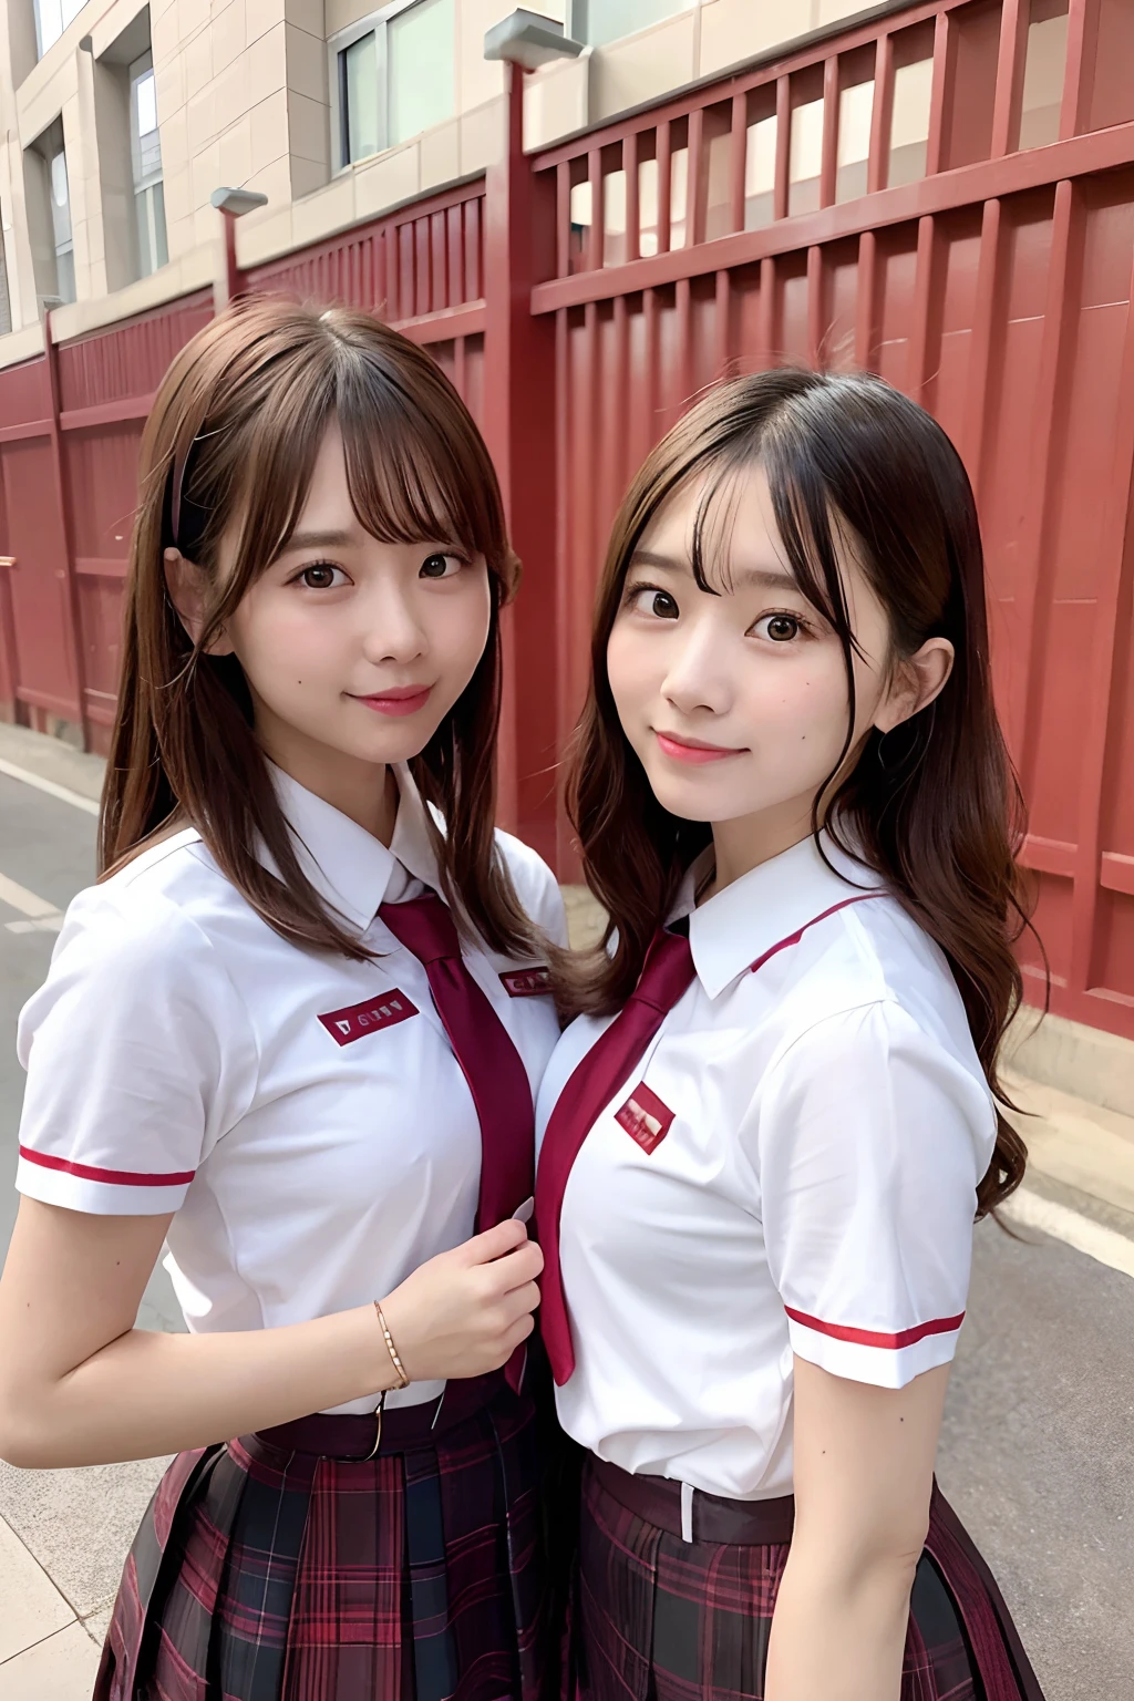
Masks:
[[[5,757],[20,762],[19,738],[0,728]],[[87,793],[97,781],[70,754],[56,777]],[[94,816],[0,771],[0,876],[65,907],[90,879],[94,828]],[[0,900],[0,1254],[15,1209],[15,1015],[54,937],[9,929],[22,920]],[[168,1327],[172,1315],[158,1272],[143,1322]],[[1134,1281],[1057,1242],[984,1225],[938,1475],[1001,1580],[1047,1701],[1134,1696],[1132,1459]],[[158,1473],[160,1461],[53,1473],[0,1465],[3,1701],[90,1694],[122,1555]]]

